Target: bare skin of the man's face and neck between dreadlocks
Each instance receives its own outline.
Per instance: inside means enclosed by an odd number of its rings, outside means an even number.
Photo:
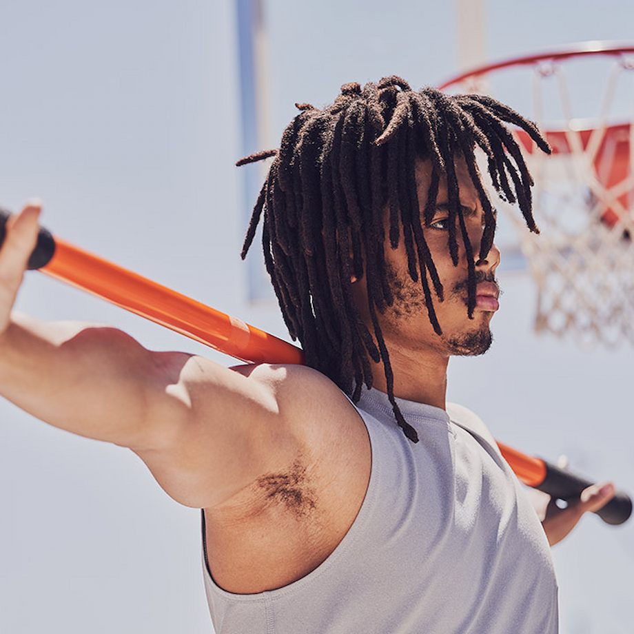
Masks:
[[[430,175],[429,161],[419,161],[416,165],[416,181],[420,209],[425,209],[427,203]],[[478,261],[484,227],[484,211],[463,159],[456,159],[456,176],[460,187],[460,204],[464,207],[464,221],[473,247],[476,280],[479,283],[484,281],[495,283],[495,269],[500,263],[500,251],[494,244],[487,257]],[[442,409],[446,406],[449,357],[486,352],[493,340],[489,325],[495,313],[493,308],[495,302],[482,300],[482,303],[488,301],[489,306],[478,305],[473,311],[473,319],[467,316],[467,256],[456,219],[459,259],[458,266],[453,266],[447,247],[449,212],[446,205],[448,202],[447,181],[441,178],[436,203],[438,209],[429,227],[424,226],[422,229],[444,287],[442,302],[433,294],[432,289],[433,303],[442,336],[438,336],[433,331],[429,322],[425,295],[420,281],[414,282],[409,276],[407,252],[402,233],[396,249],[392,249],[389,244],[387,209],[384,214],[385,258],[387,275],[395,298],[393,305],[387,307],[384,314],[377,313],[393,370],[394,395],[407,400],[425,402]],[[356,303],[369,331],[373,332],[367,309],[365,277],[360,280],[352,279]],[[490,288],[488,290],[491,291]],[[387,392],[382,363],[372,363],[371,367],[374,387]]]

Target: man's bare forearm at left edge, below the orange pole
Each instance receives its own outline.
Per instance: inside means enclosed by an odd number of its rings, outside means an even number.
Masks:
[[[141,446],[151,354],[112,327],[13,311],[0,338],[0,395],[59,429]]]

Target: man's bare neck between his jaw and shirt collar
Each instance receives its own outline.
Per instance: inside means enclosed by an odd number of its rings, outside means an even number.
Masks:
[[[390,347],[387,341],[386,345],[394,377],[394,396],[446,409],[449,356],[431,350]],[[371,363],[371,368],[374,387],[387,393],[382,362]]]

